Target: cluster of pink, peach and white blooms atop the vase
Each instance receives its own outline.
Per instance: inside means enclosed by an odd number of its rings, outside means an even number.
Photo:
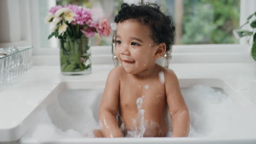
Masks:
[[[1,1],[1,0],[0,0]],[[61,13],[62,11],[65,11],[68,9],[69,13],[72,15],[68,15],[66,13]],[[60,11],[60,13],[58,12]],[[58,14],[57,14],[58,13]],[[104,17],[102,19],[98,19],[97,17],[102,17],[103,14],[98,9],[95,9],[93,11],[92,9],[86,9],[83,7],[79,7],[78,5],[72,5],[72,4],[67,4],[64,6],[64,8],[61,5],[56,5],[55,7],[52,7],[49,10],[49,14],[53,16],[60,16],[63,15],[61,18],[62,20],[68,21],[68,23],[71,23],[72,25],[75,25],[75,28],[79,28],[80,31],[77,33],[71,33],[72,35],[81,35],[81,32],[86,36],[86,37],[94,37],[95,33],[99,33],[100,36],[108,36],[111,32],[110,30],[110,25],[109,25],[109,20]],[[92,15],[94,17],[92,17]],[[93,18],[97,19],[93,19]],[[59,17],[60,18],[60,17]],[[60,18],[60,19],[61,19]],[[50,20],[52,17],[49,18]],[[48,20],[48,19],[47,19]],[[48,21],[50,21],[48,20]],[[73,27],[72,25],[68,25],[63,27],[63,31],[65,28],[67,29],[69,26]],[[58,27],[59,28],[59,27]],[[78,30],[78,29],[76,29]],[[65,30],[66,31],[66,30]]]

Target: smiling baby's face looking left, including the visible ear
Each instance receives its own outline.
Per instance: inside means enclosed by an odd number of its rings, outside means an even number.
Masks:
[[[138,74],[155,64],[157,45],[150,29],[136,20],[118,23],[115,55],[126,73]]]

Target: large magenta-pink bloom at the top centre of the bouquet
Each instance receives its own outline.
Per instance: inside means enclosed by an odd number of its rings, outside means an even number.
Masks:
[[[84,23],[86,23],[90,27],[93,26],[90,22],[92,21],[90,9],[85,9],[71,4],[65,5],[65,7],[71,9],[73,13],[75,13],[75,21],[72,22],[73,25],[76,25],[77,23],[79,25],[84,25]]]

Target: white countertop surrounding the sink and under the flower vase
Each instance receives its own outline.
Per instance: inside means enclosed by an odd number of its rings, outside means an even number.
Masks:
[[[32,66],[0,87],[0,130],[22,123],[61,81],[105,81],[112,68],[113,65],[92,65],[90,75],[63,76],[59,66]],[[174,63],[170,69],[178,79],[223,79],[256,105],[256,63]]]

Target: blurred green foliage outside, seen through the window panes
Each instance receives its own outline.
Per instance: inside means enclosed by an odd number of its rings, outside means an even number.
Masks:
[[[90,8],[91,2],[100,1],[57,0],[56,2],[61,5],[77,4]],[[183,2],[181,44],[238,43],[232,30],[239,27],[240,0],[183,0]],[[123,0],[115,0],[115,14],[117,14],[121,3]],[[171,5],[166,5],[167,1],[159,1],[159,4],[165,6],[166,9],[173,10],[173,8],[168,7]],[[92,45],[111,44],[110,38],[107,40],[107,38],[100,38],[98,35],[91,40]]]

